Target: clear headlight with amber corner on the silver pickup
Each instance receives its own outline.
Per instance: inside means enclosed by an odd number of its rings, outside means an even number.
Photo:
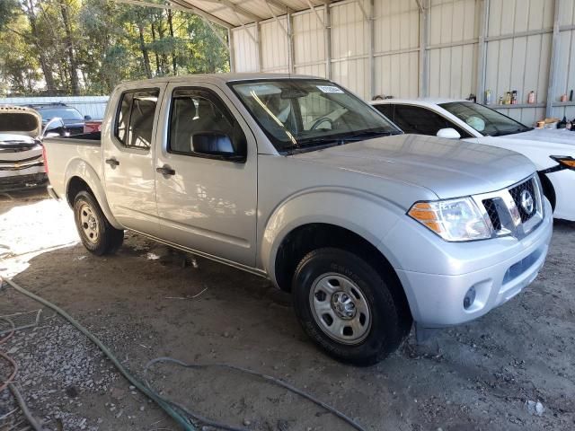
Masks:
[[[491,238],[492,227],[472,198],[416,202],[407,213],[446,241]]]

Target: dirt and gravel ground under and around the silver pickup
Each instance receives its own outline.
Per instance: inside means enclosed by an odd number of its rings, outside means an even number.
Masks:
[[[138,377],[157,356],[240,365],[314,394],[367,430],[575,429],[574,242],[575,224],[556,223],[544,269],[522,294],[423,346],[411,334],[385,362],[354,368],[323,356],[289,295],[264,279],[205,259],[184,267],[179,254],[132,233],[117,255],[96,258],[77,243],[65,204],[35,194],[0,202],[0,274],[66,309]],[[0,290],[0,315],[40,308]],[[50,430],[180,429],[49,310],[2,349]],[[251,375],[155,365],[149,378],[164,396],[236,427],[351,429]],[[13,408],[4,391],[0,430],[18,415]]]

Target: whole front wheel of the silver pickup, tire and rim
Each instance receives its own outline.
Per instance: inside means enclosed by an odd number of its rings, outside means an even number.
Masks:
[[[296,314],[328,355],[352,365],[374,365],[401,345],[411,316],[394,300],[394,278],[382,274],[340,249],[311,251],[299,263],[292,286]]]

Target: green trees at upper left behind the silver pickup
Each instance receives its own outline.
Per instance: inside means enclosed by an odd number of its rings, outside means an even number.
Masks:
[[[226,72],[220,38],[226,31],[192,13],[111,0],[0,0],[0,96],[108,94],[128,80]]]

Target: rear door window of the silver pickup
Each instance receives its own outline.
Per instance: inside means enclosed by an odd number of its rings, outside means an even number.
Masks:
[[[152,145],[159,92],[151,89],[122,94],[114,136],[124,146],[147,150]]]

